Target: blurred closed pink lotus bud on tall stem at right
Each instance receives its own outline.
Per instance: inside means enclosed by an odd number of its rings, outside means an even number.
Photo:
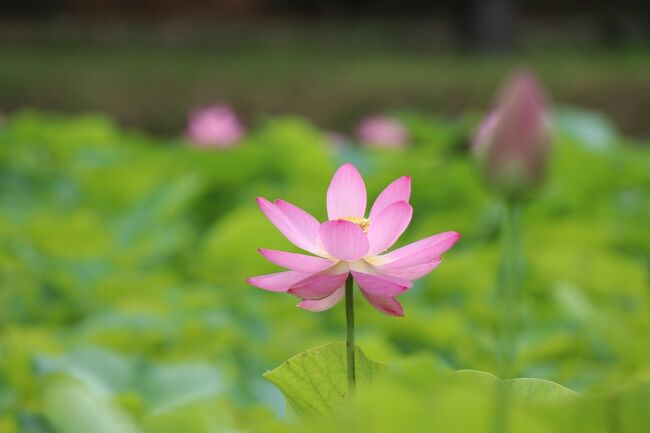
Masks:
[[[544,94],[531,74],[518,72],[506,82],[497,106],[479,126],[474,153],[488,182],[513,196],[543,180],[550,145]]]

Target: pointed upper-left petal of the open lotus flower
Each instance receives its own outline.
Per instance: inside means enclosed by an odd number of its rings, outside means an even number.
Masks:
[[[282,200],[273,204],[258,197],[257,204],[269,221],[295,246],[313,254],[322,253],[316,242],[320,226],[316,218]]]

